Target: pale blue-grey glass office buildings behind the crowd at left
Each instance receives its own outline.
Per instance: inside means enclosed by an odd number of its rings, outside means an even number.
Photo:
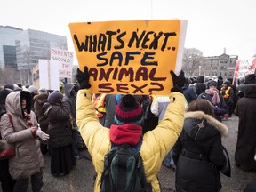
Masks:
[[[51,48],[68,50],[67,37],[33,29],[0,26],[0,68],[18,71],[21,84],[33,84],[32,68],[39,59],[50,59]]]

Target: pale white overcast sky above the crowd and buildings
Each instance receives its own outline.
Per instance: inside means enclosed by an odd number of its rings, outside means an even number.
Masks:
[[[225,47],[243,60],[256,53],[256,0],[8,0],[0,7],[0,25],[67,36],[72,52],[70,22],[179,18],[188,20],[186,48],[215,56]]]

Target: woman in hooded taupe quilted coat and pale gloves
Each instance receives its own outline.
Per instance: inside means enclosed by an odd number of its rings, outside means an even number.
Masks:
[[[14,192],[26,192],[31,181],[32,191],[39,192],[43,187],[44,159],[40,151],[40,141],[49,135],[36,129],[36,115],[31,111],[29,92],[11,92],[6,97],[7,114],[1,118],[1,136],[9,144],[15,145],[16,156],[9,159],[9,171],[16,180]],[[13,126],[12,126],[13,125]]]

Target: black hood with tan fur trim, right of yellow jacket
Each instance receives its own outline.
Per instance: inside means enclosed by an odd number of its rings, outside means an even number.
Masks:
[[[218,132],[221,136],[228,136],[228,127],[225,124],[202,111],[187,112],[184,117],[184,130],[195,140],[207,139]]]

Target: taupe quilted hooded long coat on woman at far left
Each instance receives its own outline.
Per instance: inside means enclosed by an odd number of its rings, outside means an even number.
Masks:
[[[20,92],[11,92],[7,96],[5,107],[12,116],[13,127],[7,114],[2,116],[0,124],[2,138],[15,147],[15,156],[9,159],[9,171],[14,180],[28,178],[44,166],[40,141],[28,129],[20,103]],[[30,104],[27,100],[27,106]],[[32,127],[36,127],[35,113],[31,111],[30,116]]]

